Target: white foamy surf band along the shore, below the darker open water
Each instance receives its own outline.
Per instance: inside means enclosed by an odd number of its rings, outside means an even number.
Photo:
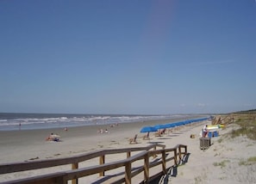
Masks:
[[[4,117],[0,113],[0,132],[8,131],[24,131],[24,130],[45,130],[45,129],[58,129],[58,128],[72,128],[80,126],[97,126],[97,125],[111,125],[111,124],[126,124],[126,123],[139,123],[151,120],[185,120],[195,117],[209,117],[209,115],[203,114],[184,114],[184,115],[148,115],[148,116],[98,116],[98,117],[84,117],[81,114],[76,116],[70,116],[72,114],[63,114],[62,116],[52,117],[40,116],[29,117],[31,114],[24,114],[22,117]],[[135,118],[133,118],[135,117]]]

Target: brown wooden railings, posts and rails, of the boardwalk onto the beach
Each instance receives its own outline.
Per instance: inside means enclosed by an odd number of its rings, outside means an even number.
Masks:
[[[161,148],[157,150],[157,148]],[[138,152],[131,156],[132,152]],[[107,155],[127,153],[127,158],[115,161],[112,163],[106,163],[105,159]],[[147,147],[136,147],[136,148],[126,148],[126,149],[116,149],[116,150],[98,150],[91,153],[86,153],[80,156],[72,156],[66,158],[56,158],[42,161],[31,161],[28,163],[9,163],[0,164],[0,175],[15,173],[20,171],[28,171],[33,169],[47,169],[50,167],[61,166],[71,164],[72,169],[63,172],[56,172],[47,175],[38,175],[34,177],[28,177],[26,179],[18,179],[15,181],[4,181],[4,184],[8,183],[64,183],[67,184],[68,181],[72,181],[72,184],[78,184],[78,179],[88,175],[99,174],[99,176],[104,177],[105,172],[113,169],[124,168],[125,172],[121,178],[116,179],[116,181],[111,181],[111,183],[128,183],[132,182],[132,178],[140,173],[144,172],[143,182],[149,183],[160,175],[165,175],[167,170],[173,166],[177,166],[184,155],[187,154],[187,146],[183,144],[178,144],[174,148],[165,149],[165,145],[162,144],[151,144]],[[149,161],[149,158],[153,156],[153,162]],[[91,160],[93,158],[99,158],[99,164],[78,168],[78,163]],[[155,161],[156,160],[156,161]],[[140,161],[141,165],[136,165],[133,167],[133,163]],[[172,163],[173,161],[173,163]],[[138,163],[137,163],[138,164]],[[149,169],[161,165],[157,173],[149,175]],[[140,181],[140,182],[142,182]]]

